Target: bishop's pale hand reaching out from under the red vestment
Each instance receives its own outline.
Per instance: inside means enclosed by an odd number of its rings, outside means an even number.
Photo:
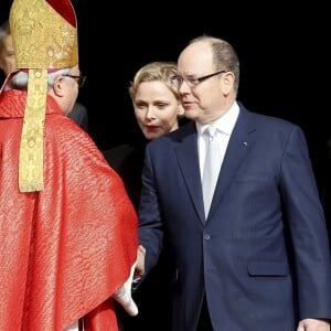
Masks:
[[[138,307],[131,297],[131,285],[137,261],[131,267],[128,280],[113,295],[113,298],[122,306],[129,316],[138,314]]]

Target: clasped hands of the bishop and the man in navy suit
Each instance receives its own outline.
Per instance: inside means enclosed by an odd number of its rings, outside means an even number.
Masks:
[[[122,306],[129,316],[138,314],[138,307],[132,299],[131,292],[138,285],[140,277],[145,274],[145,254],[146,250],[142,246],[138,247],[137,260],[131,266],[130,275],[127,281],[115,291],[113,298]],[[134,279],[135,276],[135,279]]]

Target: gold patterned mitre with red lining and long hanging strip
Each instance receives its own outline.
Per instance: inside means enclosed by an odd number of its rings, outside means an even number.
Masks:
[[[19,188],[42,191],[47,73],[78,64],[77,21],[70,0],[14,0],[9,20],[17,68],[29,72]]]

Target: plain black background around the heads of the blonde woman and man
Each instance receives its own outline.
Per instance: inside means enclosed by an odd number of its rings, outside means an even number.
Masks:
[[[10,0],[0,0],[0,21]],[[224,38],[241,60],[238,99],[250,110],[293,121],[305,130],[319,183],[327,164],[330,17],[327,2],[174,2],[154,4],[73,0],[79,65],[87,75],[78,100],[100,149],[139,134],[128,95],[135,72],[150,61],[177,61],[203,33]],[[136,1],[137,2],[137,1]],[[258,1],[260,2],[260,1]],[[180,8],[179,8],[180,7]]]

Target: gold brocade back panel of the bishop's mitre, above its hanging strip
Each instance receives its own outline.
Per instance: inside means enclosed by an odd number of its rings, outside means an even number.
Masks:
[[[10,30],[18,68],[65,68],[78,63],[77,30],[44,0],[14,0]]]

